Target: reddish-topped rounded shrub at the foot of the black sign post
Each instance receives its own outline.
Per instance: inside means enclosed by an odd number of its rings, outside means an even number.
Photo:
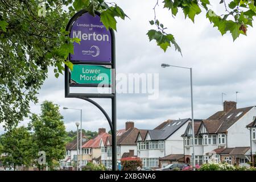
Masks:
[[[121,159],[123,171],[137,171],[137,167],[142,168],[142,161],[140,158],[130,157]]]

